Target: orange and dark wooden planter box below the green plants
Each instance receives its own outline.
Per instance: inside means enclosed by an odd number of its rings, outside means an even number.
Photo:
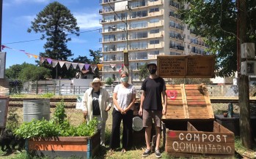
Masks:
[[[100,132],[93,136],[33,138],[26,140],[26,150],[33,155],[93,158],[100,149]]]

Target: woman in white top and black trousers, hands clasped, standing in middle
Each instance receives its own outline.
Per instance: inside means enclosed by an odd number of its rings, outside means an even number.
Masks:
[[[122,71],[120,74],[121,84],[116,85],[113,93],[113,121],[110,139],[110,152],[120,147],[120,124],[122,121],[122,152],[126,152],[132,144],[132,123],[134,117],[134,102],[136,90],[134,85],[128,84],[128,73]]]

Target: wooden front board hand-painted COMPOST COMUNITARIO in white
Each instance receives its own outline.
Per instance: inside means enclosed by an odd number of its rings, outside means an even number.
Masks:
[[[233,133],[167,131],[167,152],[234,155]]]

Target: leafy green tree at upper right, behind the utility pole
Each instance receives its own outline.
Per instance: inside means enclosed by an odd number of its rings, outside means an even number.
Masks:
[[[180,0],[189,2],[189,7],[180,9],[184,23],[189,24],[194,34],[205,37],[210,53],[216,54],[216,75],[232,76],[237,71],[237,8],[235,1]],[[246,1],[247,39],[256,41],[256,1]]]

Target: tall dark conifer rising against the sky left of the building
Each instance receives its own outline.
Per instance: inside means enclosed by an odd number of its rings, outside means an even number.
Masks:
[[[35,33],[42,34],[41,39],[46,38],[44,45],[45,53],[40,53],[40,56],[67,61],[67,58],[73,55],[71,50],[67,49],[67,42],[71,40],[71,38],[67,38],[67,34],[79,36],[79,28],[76,18],[73,17],[70,10],[64,5],[57,1],[48,4],[43,11],[37,14],[37,18],[34,18],[34,21],[32,21],[32,26],[28,29],[28,32],[30,33],[32,30]],[[72,73],[68,73],[65,66],[60,68],[57,65],[56,68],[52,68],[48,63],[43,63],[43,66],[52,70],[52,77],[56,77],[56,74],[59,77],[72,75]]]

